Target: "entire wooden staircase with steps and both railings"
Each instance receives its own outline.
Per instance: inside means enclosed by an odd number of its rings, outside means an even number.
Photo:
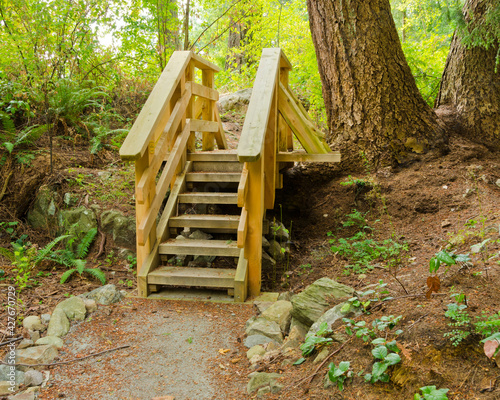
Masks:
[[[288,88],[290,69],[281,50],[264,51],[238,150],[228,150],[218,68],[191,52],[170,59],[120,149],[136,167],[139,296],[216,288],[242,302],[260,292],[263,220],[280,169],[340,160]],[[292,133],[306,152],[293,152]]]

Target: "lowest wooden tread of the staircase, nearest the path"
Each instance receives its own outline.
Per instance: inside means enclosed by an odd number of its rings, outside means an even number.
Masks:
[[[160,267],[150,272],[148,284],[233,288],[235,269]]]

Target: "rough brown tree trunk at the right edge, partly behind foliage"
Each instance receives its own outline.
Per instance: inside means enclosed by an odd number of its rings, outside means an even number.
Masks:
[[[464,16],[469,28],[482,22],[493,3],[466,2]],[[467,48],[455,32],[436,98],[436,107],[455,114],[460,134],[496,149],[500,148],[500,71],[495,72],[498,45],[496,41],[489,49]]]

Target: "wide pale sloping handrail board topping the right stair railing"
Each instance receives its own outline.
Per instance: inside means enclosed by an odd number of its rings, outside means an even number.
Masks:
[[[280,65],[280,49],[264,49],[238,144],[240,162],[256,161],[264,146]]]

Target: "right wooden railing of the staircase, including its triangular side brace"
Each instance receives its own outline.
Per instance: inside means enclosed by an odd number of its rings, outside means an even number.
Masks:
[[[260,293],[263,218],[265,210],[274,207],[275,189],[282,187],[282,164],[340,161],[290,90],[291,69],[280,49],[263,50],[238,145],[238,159],[245,163],[238,188],[238,246],[248,260],[252,297]],[[292,132],[306,152],[293,152]]]

